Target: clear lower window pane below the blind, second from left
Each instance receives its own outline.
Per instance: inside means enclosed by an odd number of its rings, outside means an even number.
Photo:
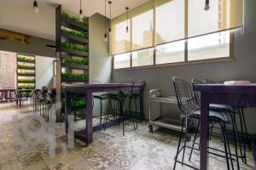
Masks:
[[[132,66],[144,66],[154,64],[154,48],[132,52]]]

